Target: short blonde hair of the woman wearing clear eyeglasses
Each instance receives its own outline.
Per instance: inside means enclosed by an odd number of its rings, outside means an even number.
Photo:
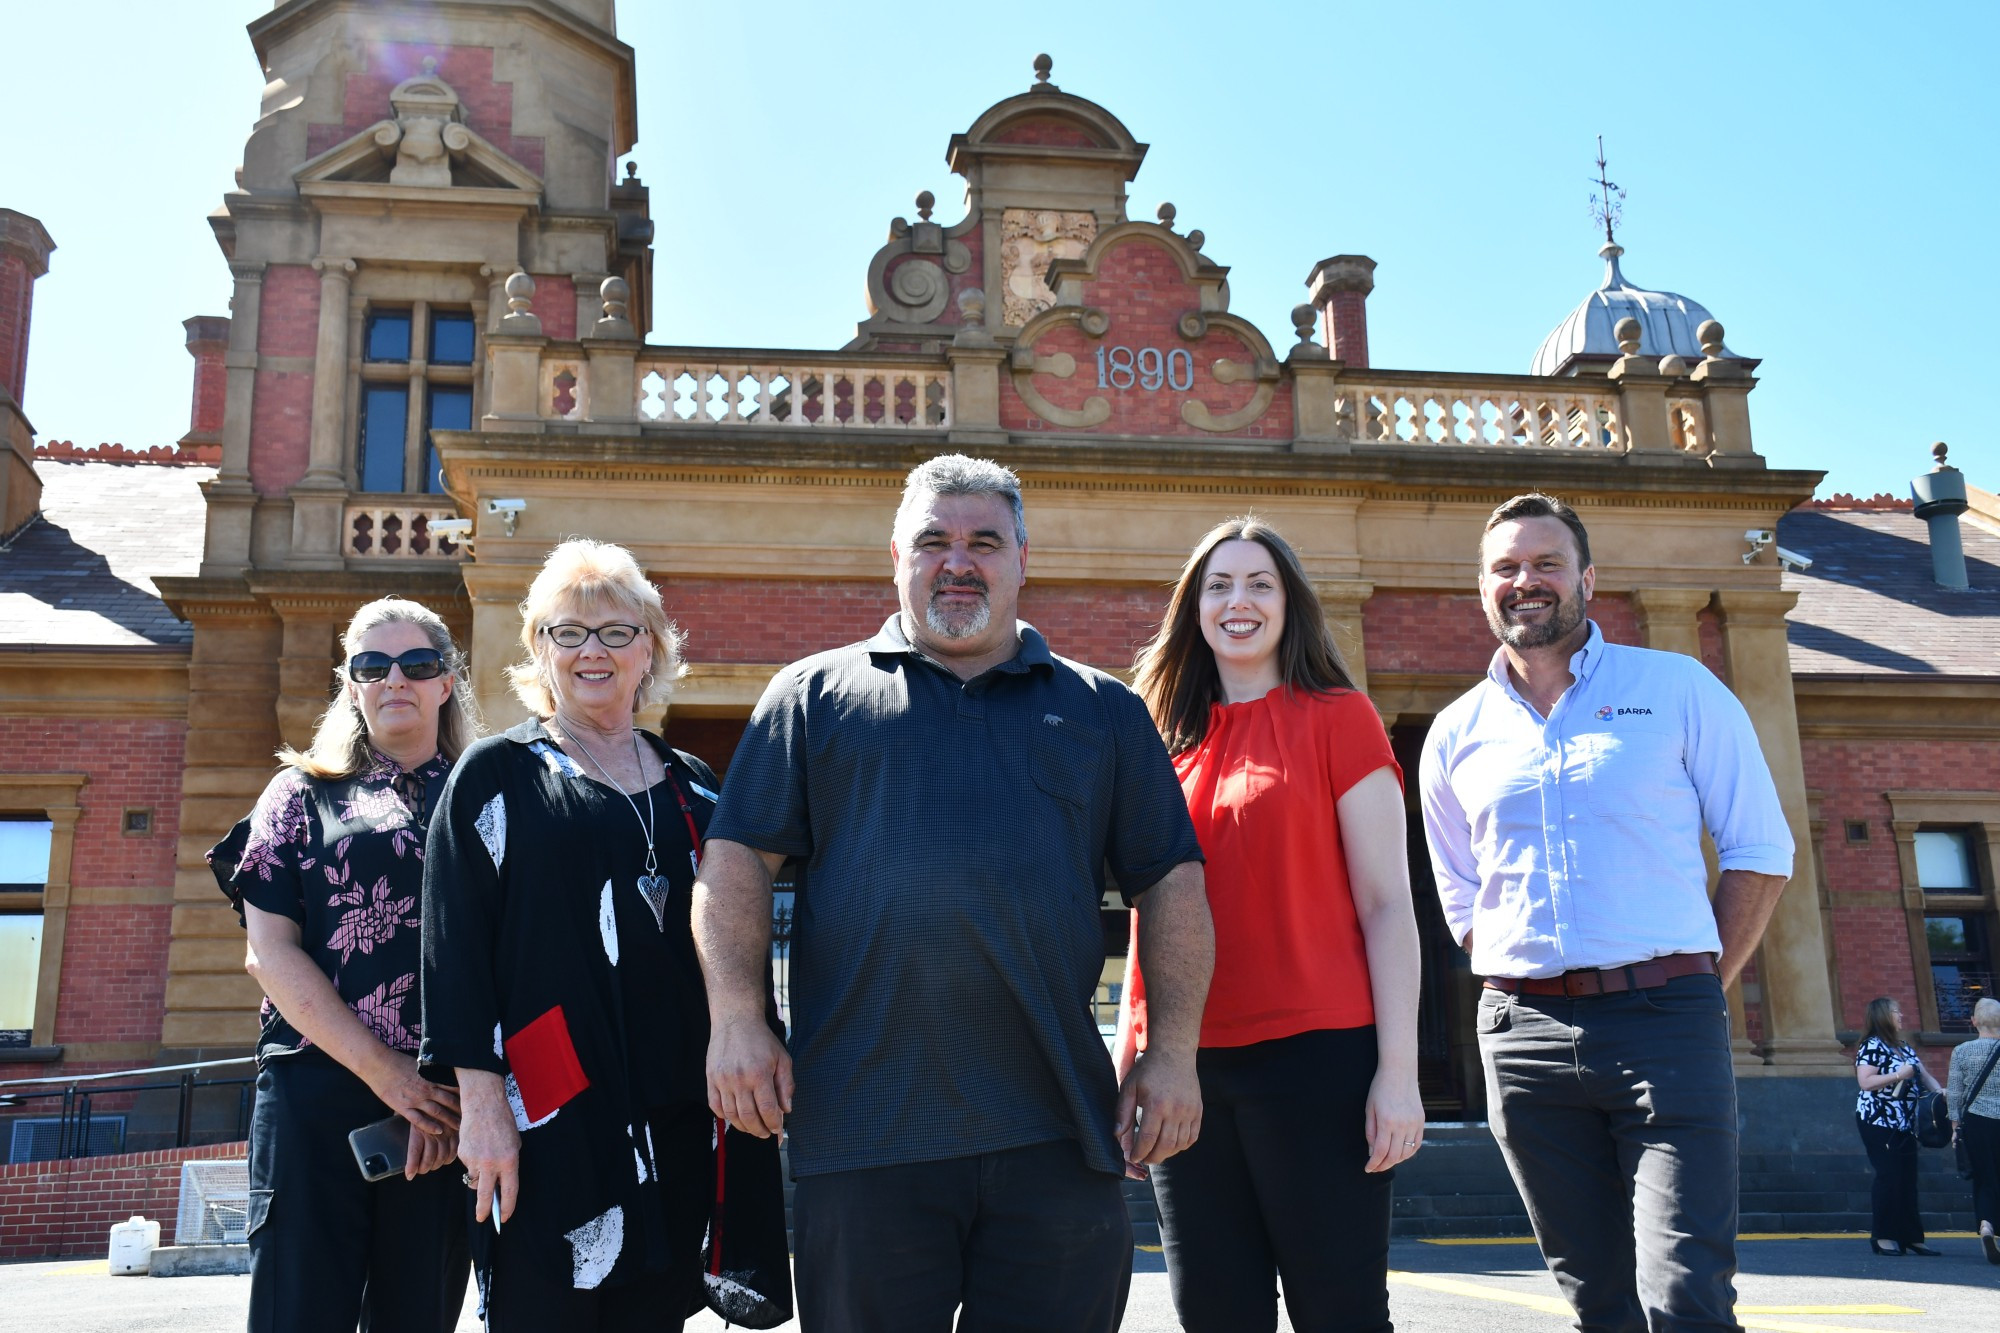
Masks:
[[[652,666],[632,693],[634,713],[672,695],[674,681],[688,675],[688,664],[680,656],[686,634],[666,618],[660,588],[652,586],[632,552],[612,542],[572,536],[548,552],[542,572],[528,584],[528,596],[520,604],[520,644],[528,650],[528,658],[506,669],[514,697],[536,717],[556,715],[556,691],[542,660],[542,626],[564,604],[618,610],[646,630],[652,640]]]

